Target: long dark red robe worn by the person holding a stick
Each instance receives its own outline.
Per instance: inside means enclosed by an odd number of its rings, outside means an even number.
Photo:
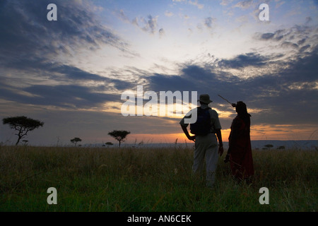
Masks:
[[[232,174],[238,179],[247,179],[254,175],[251,138],[249,136],[250,121],[247,123],[237,115],[232,121],[228,138],[230,149],[230,167]]]

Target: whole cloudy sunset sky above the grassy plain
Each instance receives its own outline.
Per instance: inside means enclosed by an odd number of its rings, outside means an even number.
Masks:
[[[49,4],[57,20],[48,20]],[[261,4],[269,20],[259,19]],[[218,95],[247,104],[252,140],[318,140],[317,7],[316,0],[1,0],[0,118],[44,121],[24,138],[31,145],[69,145],[74,137],[116,143],[107,135],[113,130],[130,131],[126,143],[191,142],[179,126],[187,112],[122,114],[122,94],[137,95],[142,85],[158,103],[160,92],[210,95],[225,142],[236,113]],[[15,133],[1,124],[0,142],[15,143]]]

